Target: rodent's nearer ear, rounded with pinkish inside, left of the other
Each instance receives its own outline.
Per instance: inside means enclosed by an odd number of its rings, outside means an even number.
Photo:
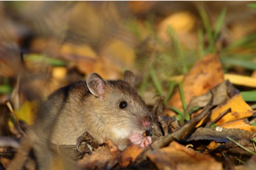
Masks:
[[[87,87],[95,97],[102,99],[106,92],[106,82],[98,73],[91,73],[86,79]]]

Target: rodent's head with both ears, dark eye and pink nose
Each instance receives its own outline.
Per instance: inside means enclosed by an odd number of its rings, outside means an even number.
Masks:
[[[152,121],[145,102],[132,87],[133,82],[131,71],[124,72],[124,80],[104,81],[97,73],[90,74],[86,80],[102,112],[99,119],[102,123],[112,123],[117,133],[126,135],[147,130]]]

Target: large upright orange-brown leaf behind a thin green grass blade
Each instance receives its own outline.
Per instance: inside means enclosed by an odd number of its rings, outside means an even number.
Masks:
[[[224,76],[219,57],[215,54],[205,56],[191,68],[182,81],[186,103],[188,104],[192,97],[203,95],[222,81]],[[179,90],[175,91],[169,105],[183,110]]]

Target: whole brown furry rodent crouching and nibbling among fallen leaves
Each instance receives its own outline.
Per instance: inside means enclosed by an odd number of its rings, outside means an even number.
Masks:
[[[130,143],[141,147],[151,143],[142,133],[151,126],[151,114],[132,87],[134,74],[124,72],[124,80],[104,81],[91,73],[56,90],[41,106],[36,119],[36,134],[55,144],[76,145],[87,131],[99,143],[111,139],[120,150]]]

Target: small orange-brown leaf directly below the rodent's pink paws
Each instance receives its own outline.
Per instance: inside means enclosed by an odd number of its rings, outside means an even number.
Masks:
[[[134,144],[127,147],[121,155],[122,165],[124,167],[129,166],[130,163],[135,161],[135,159],[138,157],[138,155],[143,149],[144,148],[141,148],[139,145]]]

